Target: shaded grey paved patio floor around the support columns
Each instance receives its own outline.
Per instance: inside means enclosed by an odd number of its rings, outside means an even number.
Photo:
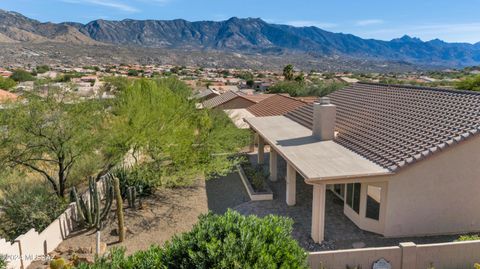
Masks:
[[[264,161],[266,164],[270,161],[270,152],[268,146],[264,153]],[[252,163],[258,160],[257,154],[250,154]],[[417,244],[430,244],[454,241],[458,235],[443,235],[429,237],[411,237],[411,238],[386,238],[382,235],[364,231],[358,228],[343,212],[344,202],[340,200],[332,191],[325,192],[325,237],[322,242],[314,242],[311,238],[311,222],[312,222],[312,194],[313,186],[305,183],[303,178],[297,174],[296,187],[296,204],[289,206],[285,202],[286,197],[286,165],[287,163],[282,157],[278,158],[278,180],[268,182],[274,193],[272,201],[248,201],[237,203],[234,210],[244,215],[266,216],[269,214],[285,216],[293,219],[292,236],[307,251],[322,251],[334,249],[350,249],[362,247],[384,247],[394,246],[401,242],[415,242]],[[268,168],[265,165],[266,169]],[[241,184],[241,183],[238,183]],[[220,184],[224,187],[223,192],[228,193],[234,188],[231,184]],[[241,186],[238,186],[241,189]],[[238,195],[233,195],[238,196]],[[232,199],[225,198],[223,200]]]

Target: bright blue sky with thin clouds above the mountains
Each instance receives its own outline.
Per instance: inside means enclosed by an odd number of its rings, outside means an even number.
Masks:
[[[390,40],[404,34],[422,40],[480,41],[480,0],[0,0],[0,8],[40,21],[224,20],[262,18],[318,26],[363,38]]]

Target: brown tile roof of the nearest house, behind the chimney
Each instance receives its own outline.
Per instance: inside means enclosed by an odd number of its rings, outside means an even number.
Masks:
[[[395,171],[480,133],[480,93],[357,83],[330,95],[335,142]],[[312,128],[313,106],[285,114]]]

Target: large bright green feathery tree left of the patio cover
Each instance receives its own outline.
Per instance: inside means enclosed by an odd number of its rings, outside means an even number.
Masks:
[[[175,79],[141,79],[114,105],[110,149],[129,153],[159,185],[188,184],[199,174],[223,173],[232,154],[248,142],[224,114],[198,110],[191,90]],[[127,157],[128,159],[128,157]]]

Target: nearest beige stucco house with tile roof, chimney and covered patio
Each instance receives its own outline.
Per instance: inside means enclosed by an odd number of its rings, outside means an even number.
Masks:
[[[358,227],[386,237],[480,231],[480,93],[357,83],[284,116],[245,120],[313,186],[311,236],[324,240],[326,191]]]

